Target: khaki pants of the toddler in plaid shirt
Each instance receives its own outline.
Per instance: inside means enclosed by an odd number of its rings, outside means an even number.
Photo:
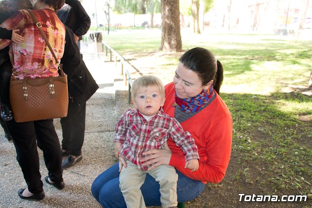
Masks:
[[[177,174],[174,167],[161,165],[153,170],[139,170],[137,165],[126,161],[127,168],[122,167],[119,175],[119,187],[127,204],[127,208],[146,208],[141,186],[149,173],[160,185],[161,207],[177,206],[176,182]]]

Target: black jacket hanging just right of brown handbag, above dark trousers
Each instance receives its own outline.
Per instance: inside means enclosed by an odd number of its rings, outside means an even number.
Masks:
[[[66,25],[64,26],[66,29],[66,43],[60,63],[63,64],[63,71],[68,76],[68,93],[79,95],[81,97],[74,97],[74,99],[86,102],[97,91],[98,84],[80,56],[73,31]],[[73,92],[77,90],[79,94]]]

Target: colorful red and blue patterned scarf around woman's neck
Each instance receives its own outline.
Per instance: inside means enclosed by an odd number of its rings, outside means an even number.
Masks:
[[[181,111],[186,113],[194,113],[199,111],[205,104],[207,104],[213,95],[214,86],[210,85],[209,91],[203,90],[195,97],[181,99],[175,94],[174,107],[178,107]]]

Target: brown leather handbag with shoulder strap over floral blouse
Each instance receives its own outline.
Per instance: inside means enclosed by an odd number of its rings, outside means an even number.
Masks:
[[[63,72],[51,45],[41,30],[34,13],[27,10],[36,23],[42,38],[44,38],[58,66],[60,76],[47,78],[24,78],[15,80],[14,65],[10,80],[10,102],[15,121],[27,122],[67,116],[68,110],[68,87],[67,75]],[[14,63],[14,53],[12,53]]]

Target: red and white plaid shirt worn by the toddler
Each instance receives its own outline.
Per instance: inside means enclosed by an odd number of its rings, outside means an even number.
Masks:
[[[146,121],[137,109],[127,110],[117,122],[115,142],[122,143],[121,155],[137,165],[140,170],[147,170],[149,166],[142,166],[141,158],[144,151],[164,149],[169,137],[181,147],[185,154],[185,161],[199,159],[198,149],[189,132],[184,132],[180,123],[164,113],[162,108],[158,113]]]

